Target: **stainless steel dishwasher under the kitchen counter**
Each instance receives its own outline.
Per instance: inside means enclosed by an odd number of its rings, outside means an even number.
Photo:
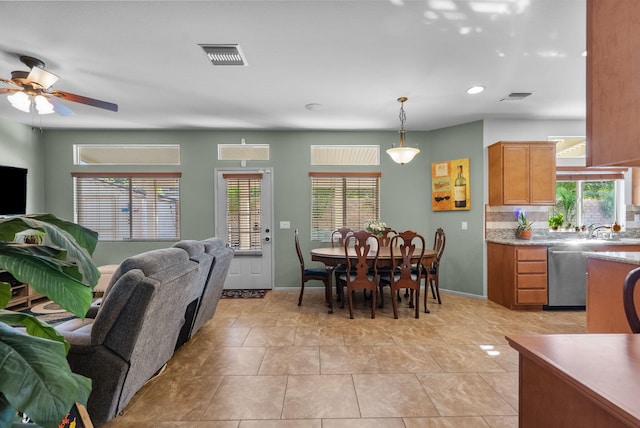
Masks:
[[[589,244],[558,245],[547,250],[549,302],[545,309],[584,309],[587,303]]]

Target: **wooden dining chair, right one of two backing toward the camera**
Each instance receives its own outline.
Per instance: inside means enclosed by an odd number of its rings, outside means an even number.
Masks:
[[[399,232],[391,239],[391,271],[380,275],[380,300],[384,285],[391,288],[391,296],[400,295],[400,290],[409,291],[411,308],[415,308],[415,317],[420,317],[420,281],[424,269],[421,260],[424,257],[424,237],[413,230]],[[418,263],[412,263],[412,260]],[[415,302],[414,302],[415,296]],[[393,317],[398,318],[398,301],[391,299],[393,304]]]

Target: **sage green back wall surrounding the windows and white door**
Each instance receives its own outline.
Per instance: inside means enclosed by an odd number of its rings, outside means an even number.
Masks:
[[[299,266],[293,246],[293,229],[301,233],[301,245],[308,251],[310,180],[309,171],[380,171],[381,218],[397,230],[414,229],[431,238],[435,228],[428,221],[431,209],[429,149],[426,132],[410,132],[408,144],[421,146],[413,162],[400,166],[390,160],[384,150],[398,139],[397,132],[329,132],[329,131],[60,131],[44,135],[47,210],[64,218],[73,218],[72,171],[86,167],[74,166],[74,144],[181,144],[179,167],[136,167],[142,171],[182,172],[181,229],[184,239],[203,239],[214,235],[214,169],[239,167],[237,161],[218,161],[218,143],[269,144],[271,160],[248,162],[249,167],[273,168],[273,233],[275,287],[298,287]],[[481,134],[477,138],[481,138]],[[309,147],[313,144],[373,144],[381,147],[381,164],[377,167],[311,167]],[[91,167],[92,171],[126,171],[125,166]],[[291,229],[280,230],[280,221],[290,221]],[[101,242],[94,254],[98,264],[118,263],[123,258],[151,248],[171,245],[171,242]],[[311,263],[311,262],[309,262]],[[443,287],[446,288],[446,287]]]

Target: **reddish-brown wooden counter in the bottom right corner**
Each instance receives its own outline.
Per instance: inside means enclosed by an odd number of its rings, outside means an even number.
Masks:
[[[640,334],[508,336],[520,428],[640,426]]]

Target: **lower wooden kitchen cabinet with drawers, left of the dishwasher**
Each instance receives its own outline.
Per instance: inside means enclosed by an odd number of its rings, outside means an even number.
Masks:
[[[509,309],[547,304],[546,245],[487,243],[487,295]]]

